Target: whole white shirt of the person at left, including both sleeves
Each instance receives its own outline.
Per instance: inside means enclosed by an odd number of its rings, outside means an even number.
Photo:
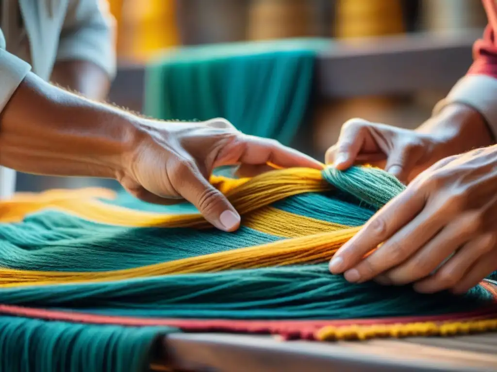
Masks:
[[[57,61],[90,61],[114,77],[115,20],[107,1],[1,0],[1,6],[0,112],[29,71],[48,80]],[[15,173],[0,167],[0,199],[10,197],[14,185]]]

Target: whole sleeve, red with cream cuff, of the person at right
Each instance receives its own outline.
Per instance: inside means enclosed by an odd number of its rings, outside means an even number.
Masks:
[[[435,106],[434,114],[450,103],[466,104],[477,110],[497,138],[497,8],[493,0],[483,0],[489,24],[483,38],[473,45],[474,62],[467,74]]]

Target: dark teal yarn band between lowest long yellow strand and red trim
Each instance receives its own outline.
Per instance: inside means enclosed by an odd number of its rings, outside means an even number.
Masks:
[[[294,265],[122,281],[0,288],[3,304],[139,317],[346,319],[468,311],[491,301],[475,287],[465,296],[424,295],[409,286],[350,285],[328,265]]]

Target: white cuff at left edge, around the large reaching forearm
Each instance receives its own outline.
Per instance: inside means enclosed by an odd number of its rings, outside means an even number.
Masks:
[[[30,70],[29,63],[5,51],[5,38],[0,30],[0,112]]]

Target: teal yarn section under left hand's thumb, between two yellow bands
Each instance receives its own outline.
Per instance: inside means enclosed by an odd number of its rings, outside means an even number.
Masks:
[[[235,233],[214,229],[126,228],[45,210],[18,224],[0,224],[0,264],[22,270],[116,270],[279,239],[243,226]]]

